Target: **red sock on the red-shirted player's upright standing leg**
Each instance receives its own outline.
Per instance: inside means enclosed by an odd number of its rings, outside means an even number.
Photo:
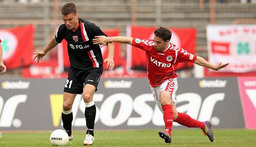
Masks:
[[[172,122],[173,122],[173,110],[170,104],[165,104],[163,109],[163,120],[165,123],[165,131],[171,136]]]

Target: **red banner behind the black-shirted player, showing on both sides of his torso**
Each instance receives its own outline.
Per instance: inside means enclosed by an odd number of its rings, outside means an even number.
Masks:
[[[111,37],[111,36],[119,36],[120,31],[118,29],[112,29],[112,30],[103,30],[103,32]],[[62,43],[58,45],[58,48],[61,48],[58,50],[59,51],[62,50],[62,52],[63,52],[62,58],[63,58],[64,67],[69,67],[70,62],[69,62],[69,57],[68,57],[67,42],[65,40],[63,40]],[[101,51],[102,51],[102,56],[103,56],[103,61],[104,61],[104,59],[106,59],[108,57],[108,48],[103,47]],[[115,67],[122,65],[121,49],[120,49],[119,43],[115,43],[114,61],[115,61]],[[106,69],[106,65],[107,65],[106,63],[103,64],[104,69]]]

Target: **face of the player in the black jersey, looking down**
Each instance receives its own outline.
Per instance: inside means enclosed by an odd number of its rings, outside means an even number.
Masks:
[[[78,24],[78,13],[69,13],[67,15],[62,14],[63,22],[65,23],[67,29],[75,30]]]

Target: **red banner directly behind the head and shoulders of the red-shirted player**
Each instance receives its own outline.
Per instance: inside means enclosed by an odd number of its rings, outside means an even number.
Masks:
[[[140,39],[152,39],[156,27],[131,26],[128,30],[128,36]],[[172,31],[171,43],[177,45],[188,52],[195,54],[196,30],[194,28],[169,28]],[[193,63],[179,63],[176,69],[192,67]],[[127,49],[127,69],[146,70],[145,51],[128,46]]]

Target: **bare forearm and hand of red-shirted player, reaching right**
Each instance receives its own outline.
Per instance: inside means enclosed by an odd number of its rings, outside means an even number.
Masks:
[[[219,63],[218,65],[213,65],[212,63],[206,61],[204,58],[200,57],[200,56],[197,56],[195,62],[197,65],[201,65],[201,66],[204,66],[204,67],[207,67],[207,68],[210,68],[210,69],[213,69],[215,71],[218,71],[226,66],[229,65],[229,63]]]

